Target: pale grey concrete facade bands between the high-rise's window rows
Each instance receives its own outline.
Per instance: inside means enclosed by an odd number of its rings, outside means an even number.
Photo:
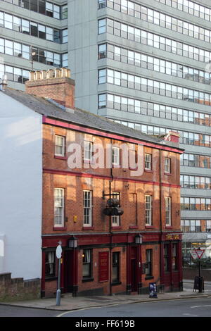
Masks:
[[[200,70],[206,73],[206,61],[198,61],[196,59],[174,54],[174,52],[158,49],[158,46],[149,46],[137,41],[129,40],[117,35],[110,33],[106,30],[102,34],[98,34],[98,20],[108,18],[115,20],[118,23],[129,25],[136,29],[151,32],[159,37],[165,37],[172,39],[174,42],[180,42],[188,46],[198,48],[202,51],[210,52],[210,43],[191,37],[186,34],[176,32],[170,28],[160,26],[155,23],[151,23],[144,19],[134,17],[128,13],[115,10],[115,8],[109,8],[113,4],[117,4],[117,1],[99,1],[103,6],[98,8],[98,1],[93,0],[69,0],[68,1],[68,20],[57,20],[50,18],[46,15],[34,13],[24,8],[19,8],[13,4],[8,4],[6,1],[1,1],[1,11],[8,13],[15,13],[15,15],[21,15],[23,18],[32,19],[37,23],[44,23],[50,27],[58,29],[65,29],[68,27],[68,43],[56,44],[55,42],[49,42],[38,37],[32,37],[30,35],[24,35],[20,32],[13,32],[14,41],[23,41],[26,44],[32,46],[38,46],[41,49],[48,49],[59,54],[68,52],[68,67],[71,69],[72,78],[75,79],[75,105],[79,108],[84,108],[88,111],[103,115],[107,118],[119,121],[124,125],[136,127],[136,125],[151,125],[158,128],[162,127],[162,131],[165,130],[176,130],[188,132],[188,134],[198,134],[211,136],[211,130],[209,125],[200,125],[197,121],[186,122],[183,119],[174,120],[166,116],[159,115],[148,115],[144,114],[143,111],[139,113],[122,111],[117,108],[110,108],[108,104],[103,108],[98,108],[98,95],[99,94],[113,94],[116,96],[127,97],[129,99],[136,99],[138,101],[147,101],[155,103],[160,106],[176,107],[184,111],[195,111],[201,115],[210,115],[210,106],[207,104],[193,103],[184,99],[172,99],[168,96],[162,96],[155,93],[144,92],[143,90],[136,90],[128,87],[122,87],[115,84],[105,82],[98,84],[98,70],[111,69],[117,70],[122,73],[129,75],[136,75],[139,77],[148,78],[150,80],[157,80],[158,82],[165,82],[167,84],[177,85],[183,88],[194,89],[198,92],[210,93],[210,84],[203,82],[197,82],[190,79],[176,77],[174,75],[167,75],[166,73],[160,73],[156,70],[149,70],[143,68],[143,66],[132,65],[129,63],[123,63],[116,61],[108,57],[108,54],[101,59],[98,59],[98,45],[100,44],[112,44],[114,46],[122,47],[128,51],[136,51],[139,54],[146,56],[153,56],[153,58],[170,61],[177,65],[186,66],[194,70]],[[146,6],[149,10],[157,11],[161,14],[170,16],[172,19],[178,19],[184,23],[190,23],[196,25],[196,27],[204,28],[205,30],[211,30],[210,20],[207,17],[193,15],[188,12],[185,7],[175,8],[177,1],[166,1],[165,0],[136,0],[131,1],[132,4],[138,4]],[[188,4],[196,4],[202,6],[202,11],[205,11],[206,15],[210,13],[210,1],[198,0],[198,1],[186,1]],[[53,1],[54,4],[63,5],[65,1]],[[120,1],[124,3],[124,1]],[[125,2],[127,3],[127,1]],[[173,6],[174,3],[174,6]],[[190,7],[191,8],[191,7]],[[208,11],[207,11],[208,10]],[[1,35],[5,38],[11,39],[11,30],[1,27]],[[30,61],[15,56],[9,56],[2,54],[6,64],[17,65],[19,68],[25,68],[30,70],[32,65]],[[45,65],[34,61],[35,70],[45,70],[51,68],[50,65]],[[18,89],[24,89],[24,85],[17,82],[9,82],[11,87]],[[172,111],[170,111],[172,114]],[[210,120],[211,125],[211,120]],[[160,129],[159,129],[160,130]],[[199,146],[196,142],[193,144],[183,144],[181,141],[181,147],[186,150],[186,154],[200,154],[210,156],[210,146]],[[209,168],[192,167],[181,165],[181,175],[188,176],[203,176],[209,180],[211,178],[211,170]],[[181,188],[182,197],[201,197],[210,199],[209,189],[197,189],[196,187],[185,187]],[[181,211],[181,219],[183,220],[201,220],[201,223],[207,220],[211,222],[210,208],[206,211]],[[211,225],[209,225],[211,226]],[[203,227],[204,228],[204,227]],[[206,227],[207,229],[207,227]],[[207,230],[206,230],[207,231]],[[190,239],[191,240],[191,239]]]

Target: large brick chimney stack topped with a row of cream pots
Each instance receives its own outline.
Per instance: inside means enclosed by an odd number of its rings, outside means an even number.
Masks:
[[[52,99],[67,108],[75,108],[75,80],[70,78],[70,69],[31,71],[25,90],[28,94]]]

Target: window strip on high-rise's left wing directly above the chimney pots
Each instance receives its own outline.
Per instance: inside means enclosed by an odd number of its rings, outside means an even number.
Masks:
[[[46,51],[4,38],[0,38],[0,53],[26,58],[27,60],[37,61],[55,67],[68,66],[68,53],[58,54],[53,51]]]

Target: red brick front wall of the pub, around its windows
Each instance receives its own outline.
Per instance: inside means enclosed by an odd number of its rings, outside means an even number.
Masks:
[[[54,141],[55,135],[66,137],[67,146],[70,142],[78,142],[83,144],[84,140],[94,143],[101,143],[103,146],[110,143],[110,139],[93,135],[66,130],[61,127],[53,127],[52,125],[44,125],[44,176],[43,176],[43,235],[59,235],[70,233],[89,234],[89,244],[93,238],[93,232],[109,233],[109,216],[103,214],[103,208],[106,207],[106,199],[103,199],[103,191],[109,193],[109,176],[110,169],[73,169],[72,171],[78,175],[70,175],[71,169],[68,168],[67,159],[59,159],[54,156]],[[115,140],[115,144],[122,144]],[[113,169],[113,180],[111,185],[112,192],[120,192],[121,206],[124,209],[124,214],[121,216],[120,227],[113,232],[128,232],[132,231],[130,226],[136,226],[135,231],[144,233],[144,242],[141,246],[142,263],[146,261],[146,249],[153,249],[153,282],[160,281],[160,246],[158,244],[160,231],[160,211],[162,213],[162,230],[168,232],[180,230],[180,216],[176,212],[180,210],[180,188],[179,188],[179,154],[173,151],[161,151],[155,147],[144,146],[146,153],[153,155],[153,170],[145,171],[139,177],[131,177],[129,169]],[[160,172],[160,153],[161,153],[161,172]],[[69,154],[67,154],[69,156]],[[164,173],[165,157],[170,157],[172,162],[172,172],[170,175]],[[143,161],[143,160],[142,160]],[[64,173],[56,173],[56,171]],[[69,172],[69,175],[68,175]],[[81,173],[87,173],[87,177],[81,176]],[[162,201],[160,206],[160,173],[162,177]],[[90,177],[90,175],[98,175],[99,177]],[[107,176],[108,178],[104,178]],[[124,181],[122,180],[124,179]],[[134,182],[135,180],[136,182]],[[54,225],[54,187],[65,189],[65,216],[68,220],[65,222],[65,230],[57,230]],[[89,189],[93,192],[93,218],[91,230],[83,228],[83,190]],[[146,227],[145,224],[145,207],[144,195],[152,194],[153,196],[153,225]],[[165,196],[172,197],[172,226],[165,226]],[[137,203],[136,203],[137,201]],[[74,216],[77,216],[77,221],[74,222]],[[79,236],[78,236],[79,237]],[[79,239],[80,240],[80,239]],[[147,244],[147,242],[149,244]],[[153,242],[155,242],[153,244]],[[98,252],[108,251],[108,248],[93,249],[93,277],[91,282],[82,281],[82,249],[78,252],[78,287],[79,292],[88,291],[89,289],[102,289],[103,293],[109,294],[110,282],[98,282]],[[121,254],[121,284],[113,286],[113,293],[125,292],[127,285],[127,249],[121,246],[113,248],[113,251],[120,251]],[[145,275],[142,277],[143,287],[148,287],[148,283],[152,280],[146,280]],[[56,282],[46,282],[46,293],[52,292]],[[55,288],[56,290],[56,288]]]

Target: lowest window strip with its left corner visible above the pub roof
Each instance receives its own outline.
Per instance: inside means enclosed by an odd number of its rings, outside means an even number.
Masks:
[[[211,126],[211,115],[206,113],[188,111],[187,109],[165,106],[162,104],[154,104],[152,102],[127,98],[116,94],[99,94],[98,108],[101,109],[106,107],[158,118],[177,120],[179,122]]]

